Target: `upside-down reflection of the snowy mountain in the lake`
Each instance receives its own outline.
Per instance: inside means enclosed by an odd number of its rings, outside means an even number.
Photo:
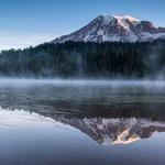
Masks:
[[[147,119],[67,119],[61,116],[55,119],[80,130],[103,145],[130,144],[141,139],[148,139],[154,132],[165,132],[164,122]]]

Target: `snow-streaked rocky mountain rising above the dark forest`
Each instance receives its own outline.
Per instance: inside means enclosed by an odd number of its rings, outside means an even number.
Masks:
[[[57,37],[51,43],[74,42],[146,42],[165,38],[165,28],[129,15],[99,15],[88,25]]]

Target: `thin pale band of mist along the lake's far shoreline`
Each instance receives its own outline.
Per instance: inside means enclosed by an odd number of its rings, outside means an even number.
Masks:
[[[142,87],[164,87],[165,80],[129,80],[129,79],[31,79],[31,78],[0,78],[0,85],[73,85],[73,86],[142,86]]]

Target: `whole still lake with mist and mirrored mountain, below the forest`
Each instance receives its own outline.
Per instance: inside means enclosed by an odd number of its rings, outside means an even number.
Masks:
[[[164,165],[165,82],[0,80],[0,164]]]

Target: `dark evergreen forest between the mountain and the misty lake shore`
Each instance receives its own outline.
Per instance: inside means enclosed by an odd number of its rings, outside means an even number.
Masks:
[[[157,78],[165,76],[165,41],[43,44],[2,51],[0,76]]]

